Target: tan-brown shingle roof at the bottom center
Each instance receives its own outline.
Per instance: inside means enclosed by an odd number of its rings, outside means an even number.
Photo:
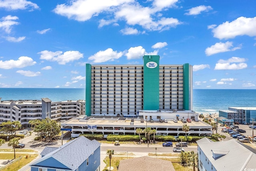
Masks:
[[[121,160],[118,171],[175,171],[172,162],[143,156]]]

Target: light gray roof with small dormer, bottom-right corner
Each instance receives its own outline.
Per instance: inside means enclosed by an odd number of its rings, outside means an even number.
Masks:
[[[198,146],[218,171],[223,170],[223,168],[230,171],[256,168],[256,154],[236,140],[198,143]],[[213,151],[216,153],[222,151],[225,154],[214,159]]]

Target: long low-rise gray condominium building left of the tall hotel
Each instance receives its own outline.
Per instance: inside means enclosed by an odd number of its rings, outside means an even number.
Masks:
[[[22,127],[29,127],[30,120],[51,118],[52,120],[68,120],[85,114],[85,100],[67,100],[52,102],[48,98],[42,100],[7,100],[0,98],[0,124],[7,121],[20,121]]]

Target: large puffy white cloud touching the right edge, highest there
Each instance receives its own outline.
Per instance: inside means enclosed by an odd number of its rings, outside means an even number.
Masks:
[[[231,39],[239,35],[256,36],[256,17],[239,17],[232,22],[225,22],[212,29],[214,37]]]

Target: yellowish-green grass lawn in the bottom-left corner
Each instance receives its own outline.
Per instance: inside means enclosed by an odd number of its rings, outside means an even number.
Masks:
[[[34,160],[38,154],[26,154],[26,153],[16,153],[16,158],[19,156],[23,156],[22,159],[19,161],[16,161],[9,165],[8,167],[2,169],[1,171],[17,171],[23,166],[27,165],[30,163],[32,160]],[[28,158],[26,158],[26,155],[28,155]],[[1,153],[0,159],[13,159],[14,158],[14,153]]]

